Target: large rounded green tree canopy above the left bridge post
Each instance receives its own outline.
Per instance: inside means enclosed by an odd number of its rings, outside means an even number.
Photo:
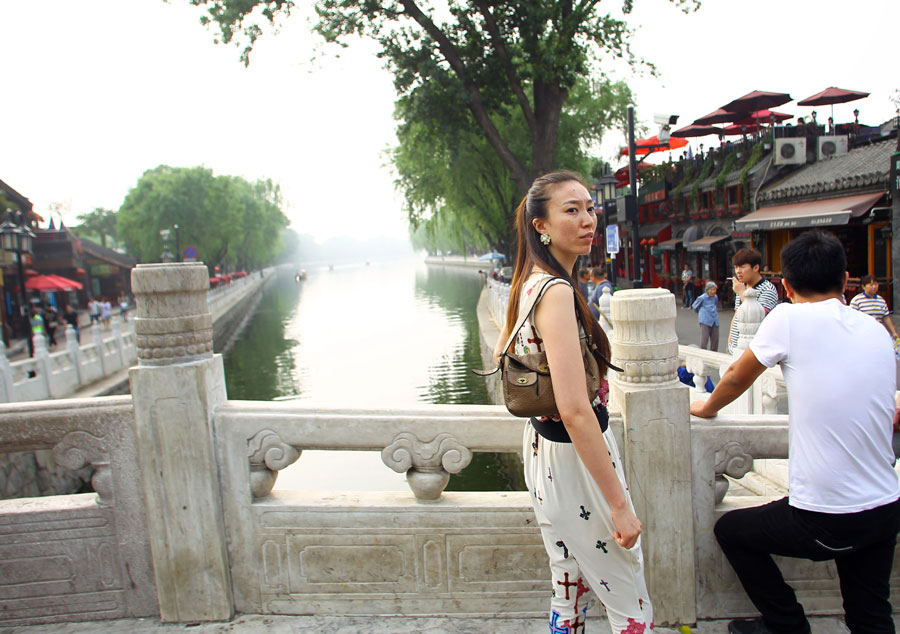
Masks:
[[[118,219],[118,236],[144,262],[159,259],[160,230],[179,227],[181,247],[193,246],[208,266],[257,268],[275,260],[288,219],[271,181],[250,183],[214,176],[205,167],[160,165],[144,172],[128,192]],[[174,235],[169,247],[174,248]]]

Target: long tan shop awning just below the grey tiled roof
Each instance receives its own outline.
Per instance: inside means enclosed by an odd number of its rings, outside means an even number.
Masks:
[[[869,211],[884,194],[857,194],[828,200],[764,207],[735,221],[737,231],[845,225]]]

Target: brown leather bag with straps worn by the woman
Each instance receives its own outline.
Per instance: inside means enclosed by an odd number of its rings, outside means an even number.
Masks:
[[[516,354],[511,352],[512,342],[521,330],[525,320],[534,312],[541,294],[546,286],[553,280],[563,280],[563,277],[548,277],[535,286],[525,306],[519,308],[519,319],[506,340],[503,353],[500,355],[500,364],[491,371],[472,370],[480,376],[490,376],[500,370],[501,383],[503,384],[503,400],[506,409],[514,416],[558,416],[556,399],[553,396],[553,382],[550,378],[550,367],[547,365],[546,352],[532,352],[530,354]],[[577,292],[577,291],[576,291]],[[575,311],[576,319],[580,320],[578,310]],[[590,335],[590,329],[584,328],[586,338],[581,339],[581,357],[584,361],[584,378],[587,385],[588,397],[593,399],[600,391],[600,366],[596,356],[606,359],[597,350]],[[595,356],[596,355],[596,356]],[[618,370],[607,361],[607,365]]]

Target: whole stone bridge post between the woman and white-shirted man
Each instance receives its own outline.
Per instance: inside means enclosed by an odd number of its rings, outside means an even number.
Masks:
[[[690,388],[678,381],[675,296],[623,290],[610,302],[613,402],[625,424],[625,474],[638,518],[657,625],[697,620]]]

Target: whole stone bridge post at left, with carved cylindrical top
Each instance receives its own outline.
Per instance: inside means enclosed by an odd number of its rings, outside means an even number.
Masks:
[[[209,276],[200,263],[141,264],[131,286],[131,394],[160,618],[226,620],[234,611],[212,417],[227,397]]]

